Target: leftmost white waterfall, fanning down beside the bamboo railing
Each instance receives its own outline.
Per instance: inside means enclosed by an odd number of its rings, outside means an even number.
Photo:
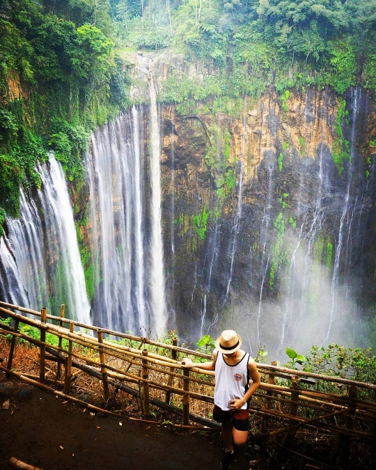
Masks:
[[[42,189],[26,197],[21,189],[20,216],[7,219],[8,236],[0,240],[4,276],[0,290],[8,301],[33,309],[65,312],[86,324],[86,295],[75,221],[60,164],[51,156],[38,165]]]

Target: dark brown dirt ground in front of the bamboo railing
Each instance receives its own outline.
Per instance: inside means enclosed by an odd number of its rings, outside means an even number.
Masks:
[[[146,425],[90,409],[0,373],[11,382],[0,396],[0,469],[10,457],[43,470],[214,470],[221,468],[219,432],[203,433]],[[247,446],[232,470],[275,469]],[[281,468],[281,467],[280,467]]]

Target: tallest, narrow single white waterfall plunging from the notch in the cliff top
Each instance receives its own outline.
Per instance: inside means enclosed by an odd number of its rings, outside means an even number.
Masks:
[[[157,113],[157,97],[152,73],[149,76],[150,91],[150,173],[151,173],[151,302],[152,302],[152,328],[163,332],[166,329],[166,305],[164,297],[164,263],[162,243],[162,208],[161,208],[161,182],[159,159],[160,136]]]

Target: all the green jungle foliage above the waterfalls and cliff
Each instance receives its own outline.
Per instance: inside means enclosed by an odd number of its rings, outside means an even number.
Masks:
[[[0,35],[0,230],[48,150],[82,178],[89,132],[131,103],[129,51],[201,63],[201,81],[171,64],[164,102],[376,90],[376,0],[3,0]]]

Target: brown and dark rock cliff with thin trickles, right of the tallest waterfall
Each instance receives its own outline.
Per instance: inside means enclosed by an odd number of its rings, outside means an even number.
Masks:
[[[375,302],[370,96],[270,91],[160,114],[166,283],[179,331],[236,327],[272,350],[281,340],[357,343]]]

